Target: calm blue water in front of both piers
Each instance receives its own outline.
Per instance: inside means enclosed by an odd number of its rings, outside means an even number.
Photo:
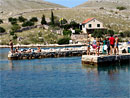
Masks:
[[[90,67],[81,57],[7,59],[0,49],[1,98],[129,98],[130,64]]]

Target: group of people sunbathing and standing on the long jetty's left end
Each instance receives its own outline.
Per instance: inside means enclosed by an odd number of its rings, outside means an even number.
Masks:
[[[9,46],[10,46],[11,53],[32,53],[32,52],[34,52],[34,49],[31,49],[31,48],[29,48],[29,49],[21,49],[20,50],[19,47],[16,47],[14,49],[12,40],[10,40]],[[37,47],[36,52],[41,52],[40,46]]]

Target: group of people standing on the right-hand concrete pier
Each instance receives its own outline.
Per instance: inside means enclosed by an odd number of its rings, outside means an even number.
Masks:
[[[91,42],[89,39],[87,41],[87,55],[90,55],[90,47],[92,46],[93,50],[94,50],[94,54],[98,55],[100,54],[100,46],[102,45],[102,53],[103,54],[108,54],[108,55],[112,55],[112,54],[119,54],[119,49],[118,49],[118,44],[119,43],[119,38],[117,36],[115,36],[115,38],[113,37],[113,35],[111,35],[110,38],[104,38],[103,41],[101,41],[101,39],[97,39],[94,38],[94,40]]]

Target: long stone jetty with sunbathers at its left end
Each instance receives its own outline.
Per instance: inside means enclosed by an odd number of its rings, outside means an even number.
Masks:
[[[8,53],[9,60],[23,60],[23,59],[38,59],[38,58],[57,58],[57,57],[72,57],[82,56],[86,54],[85,47],[75,48],[58,48],[58,49],[41,49],[41,52],[34,50],[33,52],[19,52],[19,53]]]

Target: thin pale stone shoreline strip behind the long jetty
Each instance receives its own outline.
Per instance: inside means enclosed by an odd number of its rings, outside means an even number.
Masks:
[[[64,44],[64,45],[58,45],[58,44],[30,44],[30,45],[14,45],[15,47],[20,47],[20,48],[36,48],[37,46],[40,47],[78,47],[78,46],[85,46],[84,44]],[[10,48],[9,45],[0,45],[0,48]]]

